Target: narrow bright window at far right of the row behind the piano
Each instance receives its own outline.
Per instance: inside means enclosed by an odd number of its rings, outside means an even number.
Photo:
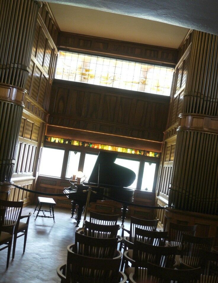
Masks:
[[[142,177],[142,190],[152,191],[154,183],[154,173],[155,173],[156,164],[145,162],[144,172]]]

